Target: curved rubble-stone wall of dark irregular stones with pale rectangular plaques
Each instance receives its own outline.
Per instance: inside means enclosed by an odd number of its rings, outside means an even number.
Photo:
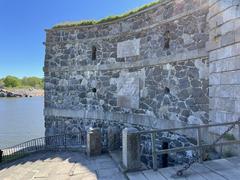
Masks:
[[[208,123],[207,15],[207,0],[174,0],[111,23],[47,30],[46,135],[81,129],[79,118]]]

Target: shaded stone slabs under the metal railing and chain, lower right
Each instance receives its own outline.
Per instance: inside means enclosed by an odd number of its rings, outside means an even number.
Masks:
[[[194,164],[183,177],[177,177],[180,167],[168,167],[158,171],[146,170],[127,173],[129,180],[239,180],[240,157]]]

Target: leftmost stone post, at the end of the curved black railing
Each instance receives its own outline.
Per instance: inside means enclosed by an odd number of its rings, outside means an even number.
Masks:
[[[90,128],[87,132],[87,155],[97,156],[102,152],[101,131],[99,128]]]

